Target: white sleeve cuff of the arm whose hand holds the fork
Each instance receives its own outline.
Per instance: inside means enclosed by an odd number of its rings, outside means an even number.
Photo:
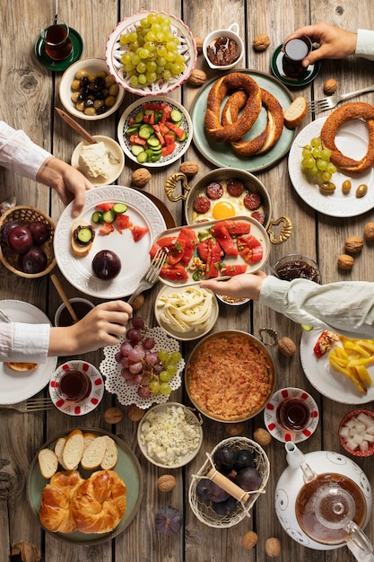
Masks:
[[[0,323],[0,361],[44,363],[49,329],[49,324]]]

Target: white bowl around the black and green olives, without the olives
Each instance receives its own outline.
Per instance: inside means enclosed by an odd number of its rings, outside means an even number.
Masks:
[[[77,60],[74,65],[69,66],[62,75],[59,87],[60,100],[65,107],[65,110],[71,115],[74,115],[74,117],[84,119],[86,121],[106,119],[109,115],[112,115],[112,113],[117,111],[125,96],[125,92],[121,88],[119,88],[119,92],[117,93],[116,102],[107,111],[105,111],[105,113],[101,113],[100,115],[85,115],[83,111],[79,111],[75,108],[72,101],[72,83],[78,70],[87,70],[89,74],[93,75],[97,75],[98,72],[106,72],[109,75],[109,68],[103,58],[81,58],[80,60]]]

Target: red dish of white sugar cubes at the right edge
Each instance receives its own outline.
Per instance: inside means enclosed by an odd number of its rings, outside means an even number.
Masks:
[[[339,424],[339,441],[346,452],[355,457],[374,454],[374,412],[370,409],[354,409]]]

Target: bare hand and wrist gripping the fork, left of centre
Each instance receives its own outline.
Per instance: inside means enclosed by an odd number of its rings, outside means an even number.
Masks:
[[[48,356],[73,356],[114,346],[126,334],[132,315],[125,301],[98,304],[73,326],[50,329]]]

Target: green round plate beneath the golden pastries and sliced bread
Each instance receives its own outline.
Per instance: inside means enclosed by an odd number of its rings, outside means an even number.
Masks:
[[[124,531],[126,527],[133,521],[143,497],[144,480],[143,473],[140,467],[139,461],[135,457],[134,452],[124,443],[117,435],[113,435],[107,431],[103,431],[98,428],[82,428],[83,433],[91,433],[93,435],[109,435],[117,443],[118,461],[117,465],[113,469],[114,472],[121,478],[126,484],[126,512],[122,518],[122,521],[117,525],[113,531],[109,531],[103,534],[85,534],[81,531],[74,531],[72,533],[60,533],[48,531],[53,537],[59,540],[65,540],[66,542],[71,542],[72,544],[82,544],[86,546],[96,545],[100,542],[105,542],[106,540],[113,539],[120,532]],[[53,439],[49,439],[47,443],[41,447],[45,449],[54,449],[55,443],[59,437],[64,437],[68,435],[68,431],[57,435]],[[38,452],[39,453],[39,452]],[[27,479],[27,496],[29,500],[30,508],[38,518],[39,521],[39,507],[40,507],[40,496],[43,488],[48,484],[48,480],[44,479],[39,470],[38,453],[35,455],[33,461],[30,464],[30,470]],[[62,470],[59,467],[59,470]],[[82,470],[80,472],[84,479],[91,476],[92,472],[95,470]]]

